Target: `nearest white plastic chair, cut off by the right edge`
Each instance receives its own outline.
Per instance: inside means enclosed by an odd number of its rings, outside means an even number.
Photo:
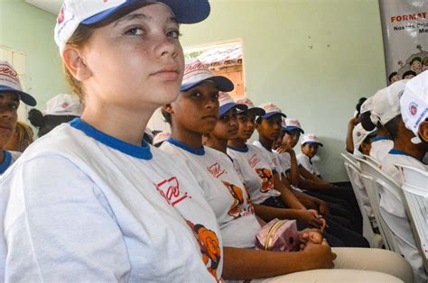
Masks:
[[[428,272],[428,171],[404,164],[395,164],[405,179],[402,188],[407,202],[412,229],[423,255],[423,266]]]

